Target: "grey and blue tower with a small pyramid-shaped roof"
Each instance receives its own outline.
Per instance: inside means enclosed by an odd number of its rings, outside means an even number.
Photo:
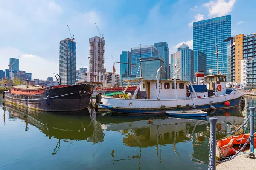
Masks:
[[[171,54],[171,63],[176,64],[176,69],[180,71],[176,74],[176,79],[194,82],[194,51],[186,44],[180,45],[178,52]],[[174,76],[175,68],[172,66],[171,77]]]

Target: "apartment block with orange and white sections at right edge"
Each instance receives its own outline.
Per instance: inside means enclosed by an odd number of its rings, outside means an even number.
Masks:
[[[256,33],[238,34],[226,40],[229,56],[228,82],[238,82],[244,87],[256,85]]]

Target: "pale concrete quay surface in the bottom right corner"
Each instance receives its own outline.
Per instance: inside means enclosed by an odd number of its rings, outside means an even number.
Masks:
[[[248,152],[248,151],[246,151]],[[254,152],[256,154],[256,152]],[[216,166],[216,170],[255,170],[256,158],[248,158],[246,154],[240,154],[236,158]]]

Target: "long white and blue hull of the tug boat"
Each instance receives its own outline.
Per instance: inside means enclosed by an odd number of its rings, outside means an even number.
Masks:
[[[230,94],[202,97],[195,99],[119,99],[102,96],[101,106],[111,111],[125,114],[165,113],[166,110],[192,110],[195,105],[199,110],[234,108],[241,105],[244,88],[236,88]],[[229,101],[230,105],[224,105]]]

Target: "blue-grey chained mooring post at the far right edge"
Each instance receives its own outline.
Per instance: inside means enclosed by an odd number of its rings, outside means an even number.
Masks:
[[[250,156],[254,156],[254,111],[255,107],[249,107],[250,109]]]

